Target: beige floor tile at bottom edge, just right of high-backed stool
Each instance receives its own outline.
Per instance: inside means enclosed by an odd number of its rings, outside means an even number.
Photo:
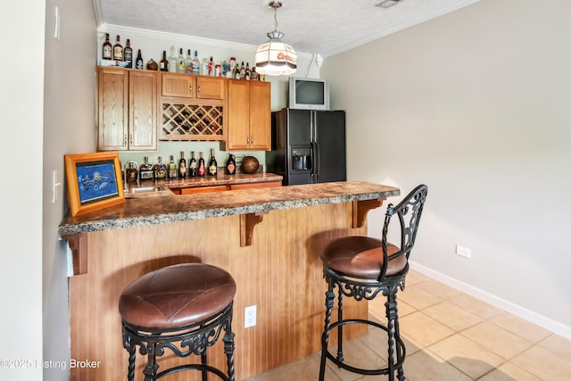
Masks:
[[[440,359],[434,353],[417,352],[404,361],[404,375],[410,381],[471,381],[459,369]]]

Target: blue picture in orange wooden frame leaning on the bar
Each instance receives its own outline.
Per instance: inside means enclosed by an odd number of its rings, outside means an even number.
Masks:
[[[119,153],[64,155],[71,216],[125,203]]]

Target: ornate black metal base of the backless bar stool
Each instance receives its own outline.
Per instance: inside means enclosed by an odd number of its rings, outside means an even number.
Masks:
[[[137,345],[142,355],[147,355],[148,361],[143,370],[145,381],[154,381],[182,370],[199,370],[203,373],[203,381],[208,379],[208,373],[214,374],[223,381],[234,381],[234,333],[232,332],[232,306],[219,312],[209,319],[204,319],[186,327],[171,329],[158,329],[149,327],[137,327],[122,321],[123,347],[129,353],[128,380],[135,378],[135,360]],[[228,375],[221,370],[207,365],[206,350],[216,344],[224,330],[222,341],[224,352],[228,359]],[[191,354],[201,356],[199,364],[184,364],[158,372],[159,365],[156,360],[164,354],[168,348],[178,357],[187,357]]]

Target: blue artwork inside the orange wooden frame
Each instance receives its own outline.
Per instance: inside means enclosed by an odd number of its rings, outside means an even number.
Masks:
[[[112,160],[76,163],[79,202],[95,203],[119,195],[115,167]]]

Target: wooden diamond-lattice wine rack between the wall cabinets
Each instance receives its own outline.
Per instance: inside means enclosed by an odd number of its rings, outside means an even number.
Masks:
[[[163,103],[161,140],[224,140],[224,106]]]

